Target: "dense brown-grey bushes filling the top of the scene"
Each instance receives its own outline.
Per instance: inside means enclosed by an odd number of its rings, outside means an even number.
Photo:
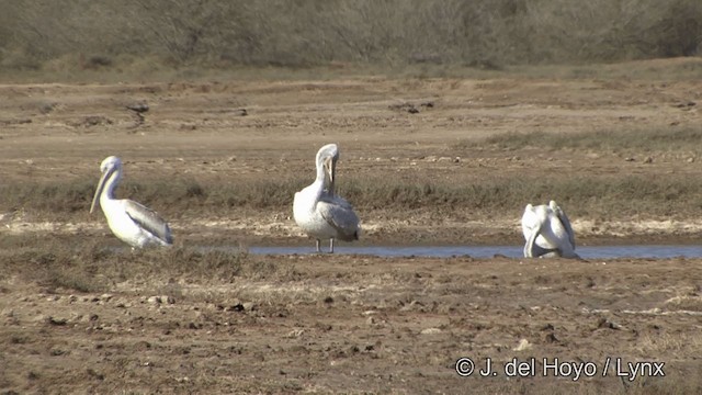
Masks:
[[[702,53],[700,0],[0,0],[0,70],[584,64]]]

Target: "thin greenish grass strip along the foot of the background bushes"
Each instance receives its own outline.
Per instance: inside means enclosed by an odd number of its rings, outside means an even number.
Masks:
[[[155,63],[161,63],[154,59]],[[388,79],[587,79],[587,80],[647,80],[647,81],[689,81],[702,78],[702,58],[683,58],[675,63],[631,61],[621,64],[589,65],[528,65],[506,66],[500,69],[484,69],[462,64],[445,65],[369,65],[347,64],[337,68],[331,66],[310,66],[304,68],[250,67],[236,66],[216,68],[213,66],[192,66],[176,68],[167,64],[160,67],[128,63],[100,69],[3,69],[0,81],[13,83],[42,82],[101,82],[122,83],[124,81],[172,82],[172,81],[236,81],[236,80],[283,80],[309,81],[338,78],[367,78],[382,76]],[[653,64],[652,64],[653,63]],[[0,68],[1,69],[1,68]]]

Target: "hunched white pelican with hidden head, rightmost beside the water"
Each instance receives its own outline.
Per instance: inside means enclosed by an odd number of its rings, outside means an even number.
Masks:
[[[575,252],[575,234],[570,219],[555,201],[548,205],[528,204],[522,216],[526,244],[524,257],[580,258]]]

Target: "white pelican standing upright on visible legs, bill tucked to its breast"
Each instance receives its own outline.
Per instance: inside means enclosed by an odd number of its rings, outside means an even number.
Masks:
[[[335,174],[339,148],[327,144],[317,153],[317,179],[310,185],[295,193],[293,216],[295,223],[317,241],[317,252],[321,252],[321,239],[329,239],[329,252],[333,252],[333,240],[353,241],[359,239],[361,228],[353,207],[335,193]]]

